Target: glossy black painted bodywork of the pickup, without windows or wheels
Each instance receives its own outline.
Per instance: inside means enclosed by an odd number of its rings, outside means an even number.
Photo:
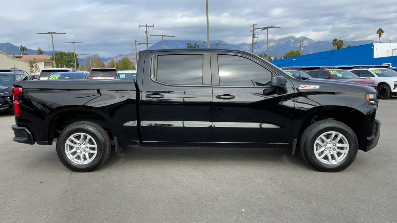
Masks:
[[[205,55],[203,85],[154,81],[153,60],[161,54]],[[268,69],[272,75],[285,77],[287,91],[270,85],[220,86],[213,60],[216,54],[242,56]],[[319,88],[300,89],[301,85]],[[52,144],[57,130],[54,122],[77,113],[87,113],[85,120],[91,114],[99,115],[103,119],[102,127],[117,137],[120,145],[139,141],[141,146],[290,148],[309,118],[322,112],[356,115],[357,122],[365,128],[365,136],[359,136],[367,140],[360,145],[364,151],[367,146],[376,145],[379,137],[377,134],[376,140],[371,138],[378,100],[372,103],[365,98],[365,94],[376,93],[373,88],[332,80],[295,79],[252,54],[234,50],[146,50],[140,54],[135,84],[128,80],[47,80],[17,82],[14,86],[23,87],[23,95],[19,96],[21,115],[15,117],[16,124],[29,129],[40,144]],[[160,98],[152,98],[153,95]],[[217,98],[219,95],[235,98],[224,100]],[[133,121],[137,124],[124,125]],[[225,123],[264,125],[241,128]],[[266,124],[277,128],[268,128]]]

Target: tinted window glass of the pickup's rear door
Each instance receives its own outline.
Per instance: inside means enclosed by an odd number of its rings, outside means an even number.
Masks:
[[[202,85],[203,55],[159,55],[154,79],[170,85]]]

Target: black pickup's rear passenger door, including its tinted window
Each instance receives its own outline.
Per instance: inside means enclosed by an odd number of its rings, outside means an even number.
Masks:
[[[140,125],[144,144],[210,142],[209,52],[148,54],[143,73]]]

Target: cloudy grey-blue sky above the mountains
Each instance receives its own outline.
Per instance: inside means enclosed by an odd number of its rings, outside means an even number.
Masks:
[[[205,0],[1,0],[0,43],[31,49],[113,57],[131,52],[135,39],[145,42],[144,27],[152,35],[175,35],[174,40],[206,40]],[[210,40],[229,44],[251,42],[249,26],[277,25],[269,38],[304,36],[313,40],[378,40],[397,42],[397,0],[208,0]],[[262,31],[259,40],[266,39]],[[149,42],[161,41],[151,37]]]

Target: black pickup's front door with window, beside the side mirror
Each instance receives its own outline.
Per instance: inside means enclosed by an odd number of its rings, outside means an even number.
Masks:
[[[251,55],[211,54],[214,142],[284,147],[294,112],[293,85],[270,87],[275,68]]]

